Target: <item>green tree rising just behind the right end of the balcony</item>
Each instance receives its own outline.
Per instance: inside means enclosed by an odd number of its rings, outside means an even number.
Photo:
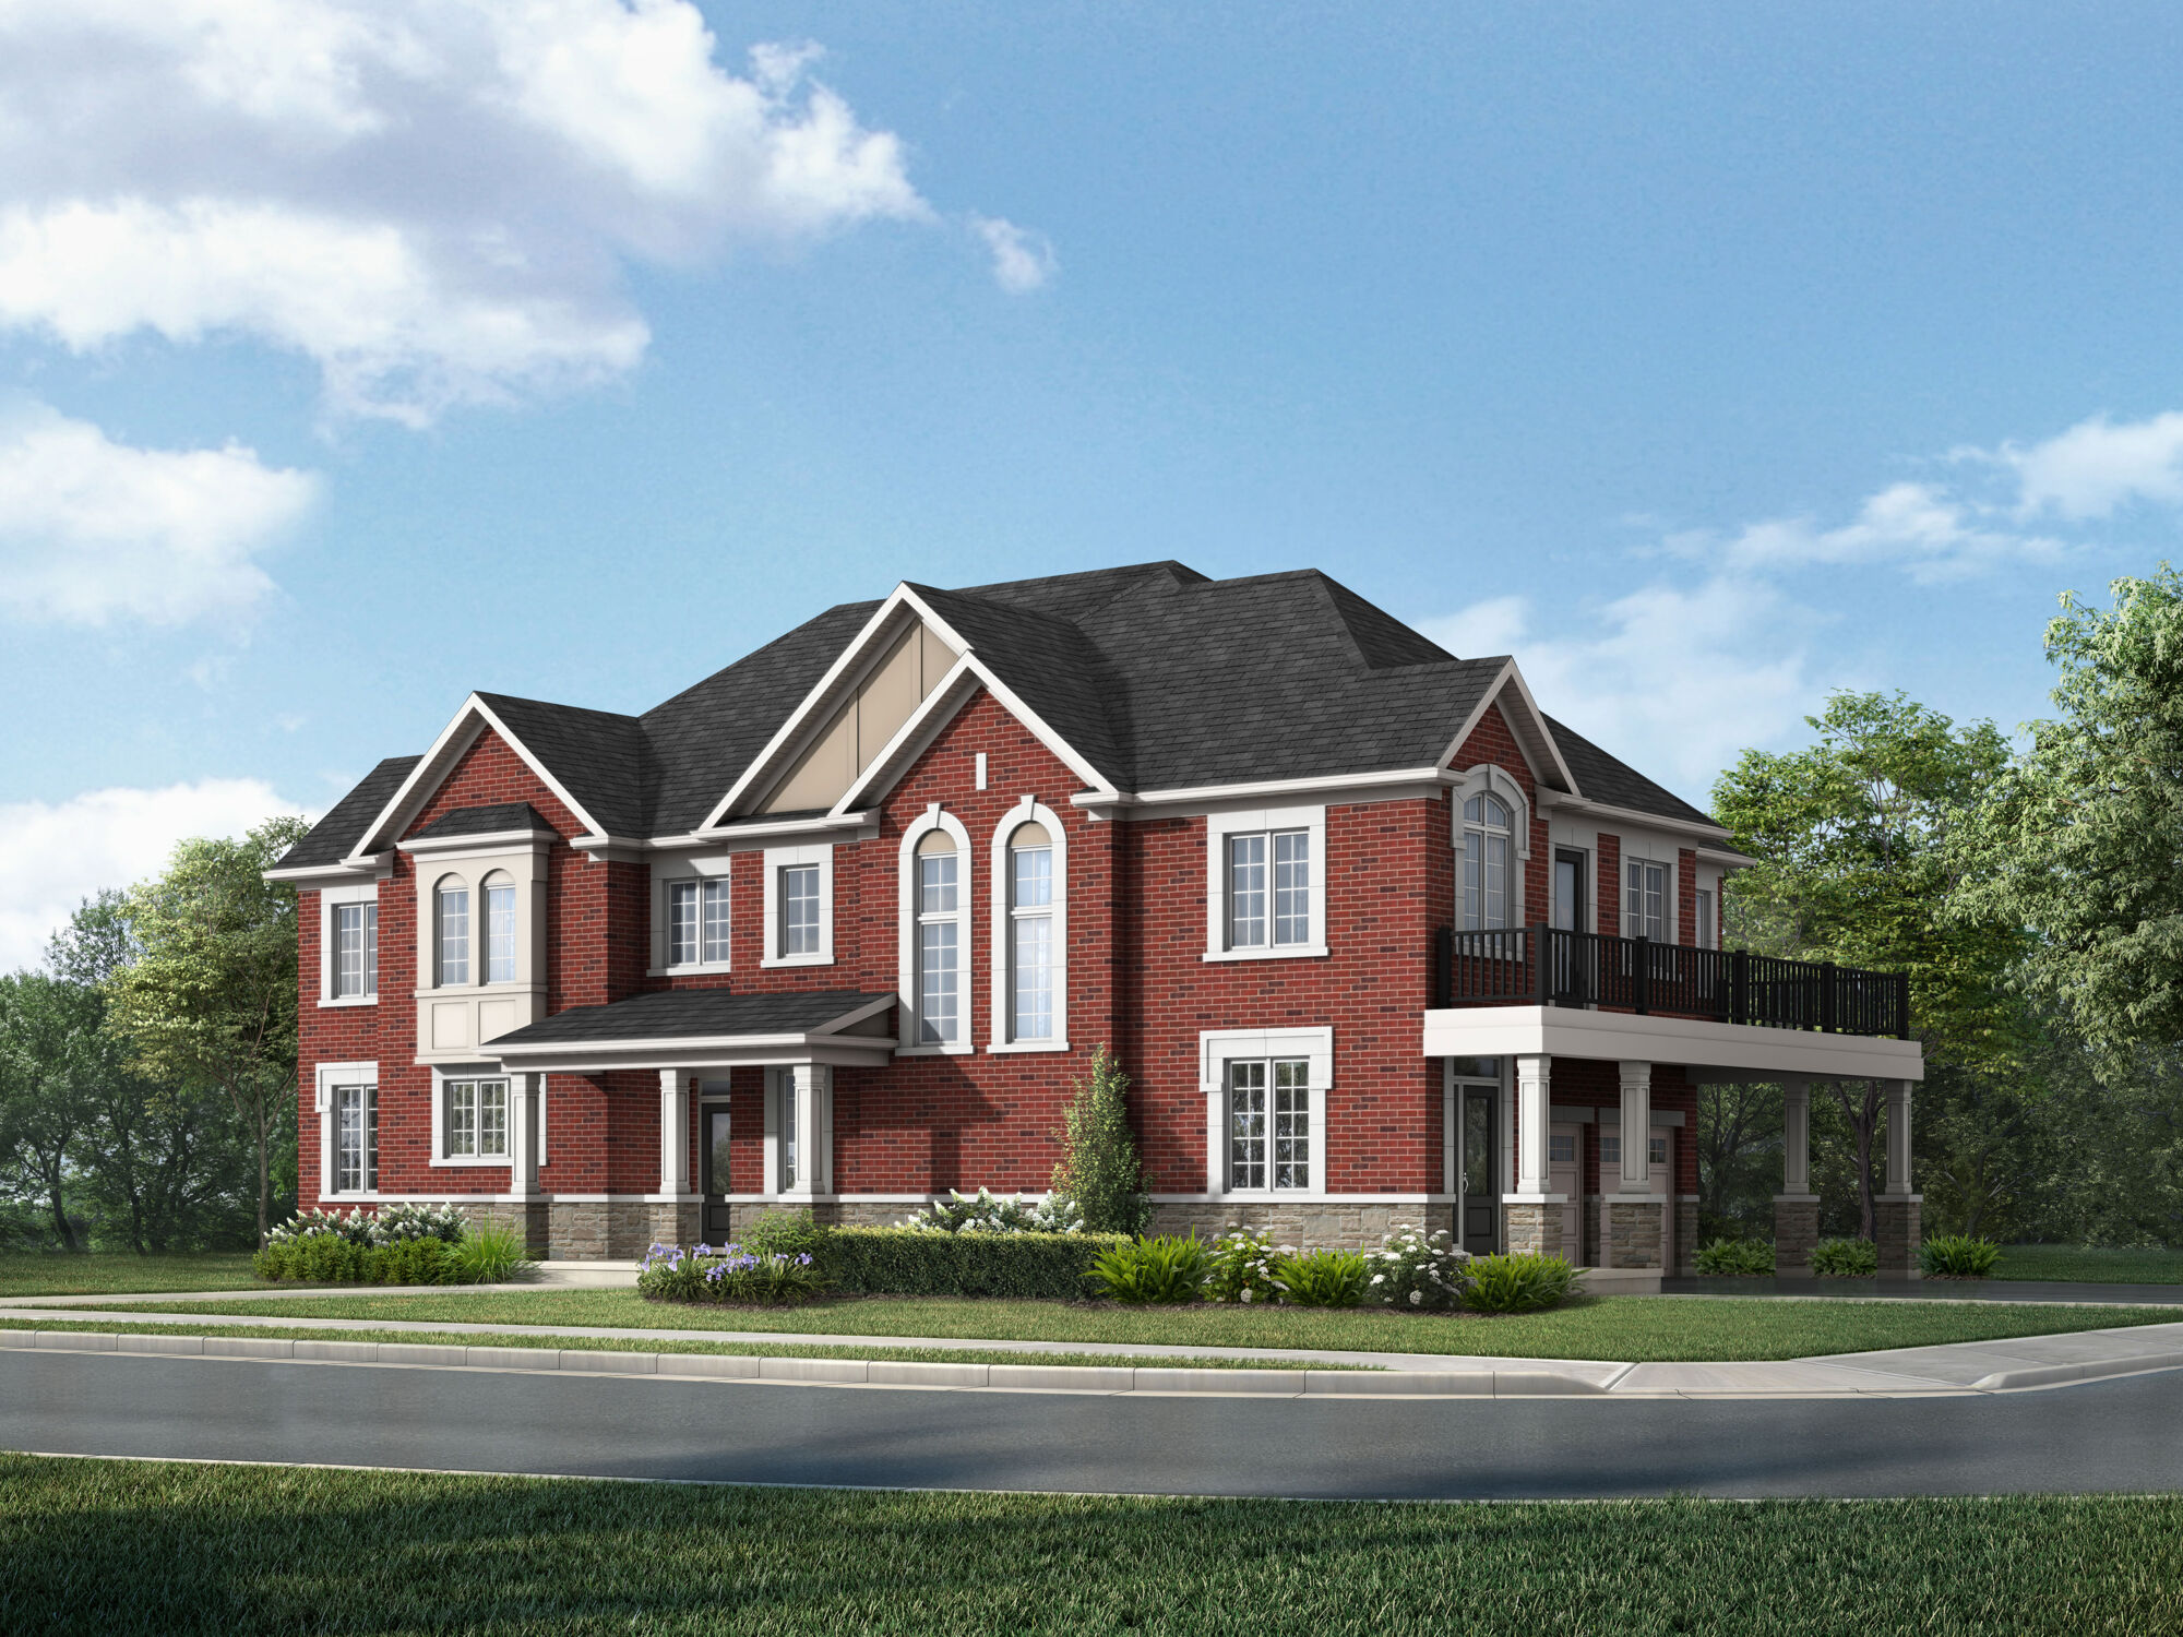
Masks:
[[[1814,744],[1744,751],[1714,786],[1714,812],[1757,860],[1729,882],[1733,923],[1777,954],[1906,973],[1928,1059],[1987,1080],[2017,1074],[2021,1004],[2004,978],[2021,932],[1947,908],[1958,832],[2008,764],[2006,740],[1991,722],[1958,729],[1904,694],[1838,692],[1808,720]],[[1882,1089],[1832,1091],[1871,1233]]]

